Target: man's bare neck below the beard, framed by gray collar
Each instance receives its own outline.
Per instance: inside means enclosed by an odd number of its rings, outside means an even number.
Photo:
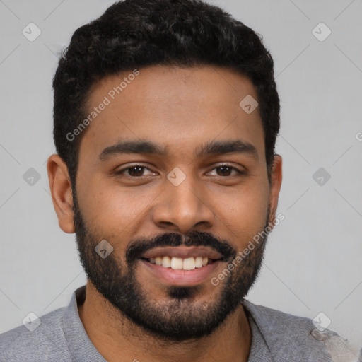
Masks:
[[[135,325],[89,281],[78,313],[89,339],[107,361],[247,362],[250,353],[252,336],[242,305],[209,336],[184,342],[165,341]]]

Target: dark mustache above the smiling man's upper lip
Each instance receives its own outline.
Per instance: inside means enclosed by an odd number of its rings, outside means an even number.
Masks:
[[[222,256],[224,262],[235,259],[237,250],[235,250],[227,240],[219,240],[211,233],[202,231],[193,231],[187,235],[177,233],[164,233],[153,238],[132,239],[126,250],[126,261],[132,264],[139,259],[148,250],[154,247],[177,247],[177,246],[204,246],[211,247]]]

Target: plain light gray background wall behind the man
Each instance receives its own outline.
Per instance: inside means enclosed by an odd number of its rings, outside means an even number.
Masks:
[[[86,282],[74,235],[60,230],[49,195],[51,83],[57,52],[112,3],[0,0],[0,332],[30,312],[67,305]],[[248,299],[310,318],[323,312],[329,328],[361,345],[362,1],[213,4],[262,34],[281,98],[285,220]],[[30,22],[42,32],[33,42],[22,34]],[[320,22],[332,30],[322,42],[313,35]],[[23,179],[29,168],[40,174],[33,185]],[[324,185],[313,179],[319,168],[331,176]]]

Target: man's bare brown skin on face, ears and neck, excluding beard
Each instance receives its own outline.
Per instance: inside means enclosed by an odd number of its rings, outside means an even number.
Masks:
[[[99,105],[130,73],[96,83],[88,110]],[[274,156],[269,184],[258,109],[248,115],[239,106],[246,95],[257,99],[251,81],[226,68],[149,66],[140,69],[139,76],[83,131],[76,178],[78,208],[88,234],[98,242],[108,240],[114,247],[111,255],[119,264],[127,264],[130,240],[148,240],[165,233],[210,233],[239,252],[264,230],[266,221],[274,220],[281,187],[281,156]],[[168,154],[99,158],[104,148],[117,141],[140,139],[165,147]],[[235,140],[255,146],[257,157],[247,153],[194,155],[206,142]],[[234,169],[222,173],[220,167],[225,164],[244,174]],[[116,174],[135,165],[146,169],[143,173],[130,175],[125,170]],[[177,187],[167,178],[173,168],[180,168],[186,176]],[[74,233],[73,195],[66,165],[52,155],[47,169],[59,226],[66,233]],[[226,262],[218,264],[211,277],[226,266]],[[170,286],[155,279],[141,263],[134,268],[136,282],[147,299],[167,308]],[[199,311],[217,305],[227,281],[218,287],[204,281],[192,305]],[[90,280],[86,300],[78,310],[88,337],[107,361],[201,362],[210,361],[210,356],[216,361],[247,361],[250,352],[251,332],[241,305],[211,334],[167,342],[119,313]]]

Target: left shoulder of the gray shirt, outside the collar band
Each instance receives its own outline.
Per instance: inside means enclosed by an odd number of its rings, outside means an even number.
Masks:
[[[63,332],[65,309],[0,334],[0,361],[69,361]]]

